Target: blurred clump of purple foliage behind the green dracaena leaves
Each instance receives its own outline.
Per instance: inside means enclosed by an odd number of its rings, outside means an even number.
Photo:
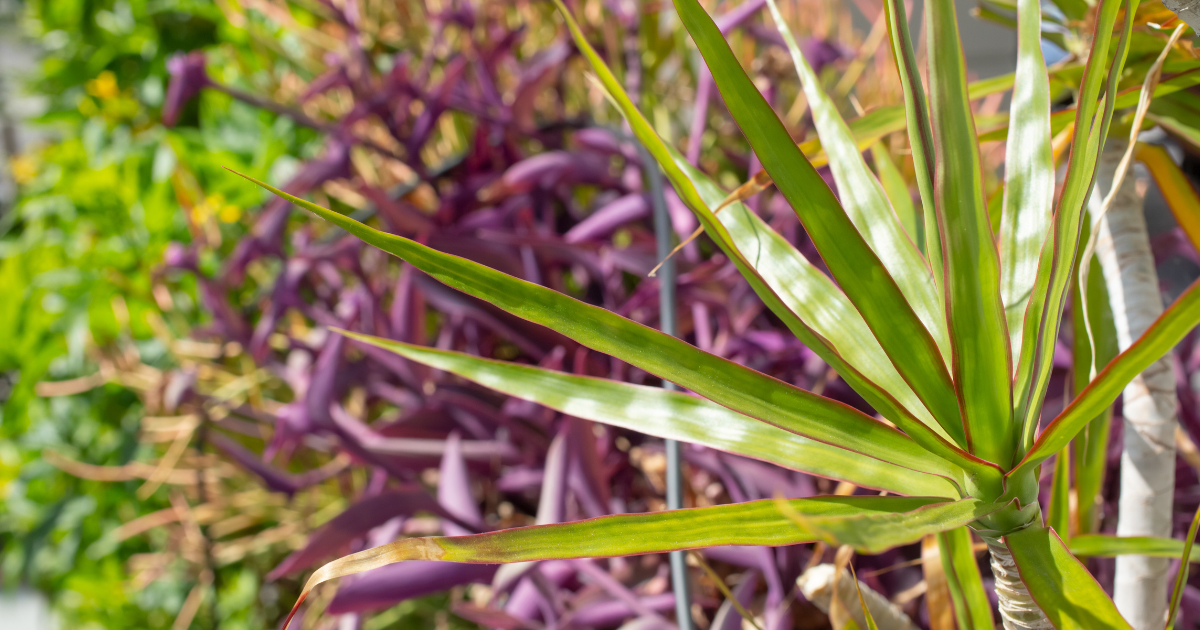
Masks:
[[[355,4],[329,4],[350,52],[331,56],[294,106],[214,80],[203,53],[174,58],[163,120],[175,124],[186,102],[205,89],[290,118],[322,132],[324,146],[282,182],[287,192],[322,197],[379,229],[659,326],[659,281],[646,277],[658,262],[646,164],[623,128],[568,114],[563,74],[574,47],[556,37],[530,53],[527,29],[470,4],[452,5],[428,20],[434,34],[460,26],[455,48],[439,55],[400,52],[379,70],[356,36]],[[750,19],[762,6],[743,2],[718,23],[725,31],[745,28],[766,44],[781,43],[773,29]],[[620,4],[610,10],[626,34],[636,34],[637,13]],[[434,40],[438,48],[445,43]],[[804,47],[817,70],[848,54],[821,41]],[[629,80],[636,80],[637,55],[626,61]],[[722,106],[710,77],[695,83],[691,133],[680,149],[697,163],[701,133],[710,116],[722,115]],[[335,91],[353,102],[344,113],[312,107]],[[466,136],[452,155],[437,150],[446,142],[448,121]],[[739,145],[720,150],[751,170],[743,175],[757,168]],[[432,154],[440,161],[431,162]],[[392,176],[373,173],[372,164]],[[674,230],[686,238],[695,218],[671,191],[666,202]],[[818,260],[780,197],[764,196],[751,208]],[[346,469],[332,460],[296,472],[310,461],[300,457],[305,451],[337,455],[367,472],[366,485],[348,497],[349,508],[312,533],[271,580],[295,580],[337,554],[403,535],[461,535],[662,508],[661,443],[499,396],[334,329],[631,383],[658,384],[655,377],[460,294],[337,229],[293,216],[277,198],[254,215],[216,270],[202,269],[205,247],[175,244],[163,260],[197,280],[211,322],[196,335],[236,342],[292,392],[276,408],[229,409],[214,421],[210,446],[289,496]],[[275,271],[264,282],[251,271],[268,263]],[[869,409],[704,240],[682,251],[678,268],[679,328],[689,342]],[[188,374],[176,374],[175,383],[175,403],[214,402]],[[685,445],[684,455],[691,505],[834,490],[828,480],[710,449]],[[798,610],[811,610],[793,587],[811,550],[722,547],[704,556],[724,574],[740,574],[734,594],[760,606],[769,630],[790,629]],[[893,551],[862,565],[906,559]],[[722,598],[703,584],[702,574],[694,575],[695,601],[715,613]],[[919,569],[865,580],[895,593],[919,581]],[[486,584],[479,590],[486,598],[455,602],[454,612],[490,628],[614,628],[634,618],[673,625],[667,564],[659,556],[500,568],[402,563],[343,580],[326,612],[365,613],[464,584]],[[740,623],[728,610],[718,620],[721,628]]]

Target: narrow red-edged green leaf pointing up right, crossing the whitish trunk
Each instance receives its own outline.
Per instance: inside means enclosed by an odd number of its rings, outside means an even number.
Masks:
[[[1190,287],[1138,338],[1117,355],[1054,421],[1046,426],[1009,479],[1026,474],[1066,446],[1080,430],[1121,394],[1133,378],[1170,352],[1200,324],[1200,281]]]

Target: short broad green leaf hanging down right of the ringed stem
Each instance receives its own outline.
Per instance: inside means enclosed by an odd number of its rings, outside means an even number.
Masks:
[[[1133,630],[1052,529],[1030,527],[1004,536],[1004,544],[1030,595],[1057,630]]]

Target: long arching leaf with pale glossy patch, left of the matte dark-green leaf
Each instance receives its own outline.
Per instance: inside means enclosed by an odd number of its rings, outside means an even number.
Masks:
[[[570,12],[562,6],[559,12],[566,20],[576,46],[629,121],[630,128],[763,302],[802,342],[838,370],[872,407],[907,432],[914,442],[930,452],[972,470],[972,475],[988,479],[986,484],[997,485],[998,468],[972,458],[949,442],[949,437],[932,420],[929,410],[875,341],[862,316],[824,274],[744,205],[734,204],[719,220],[709,211],[708,204],[724,199],[724,191],[662,143],[620,83],[588,44]]]

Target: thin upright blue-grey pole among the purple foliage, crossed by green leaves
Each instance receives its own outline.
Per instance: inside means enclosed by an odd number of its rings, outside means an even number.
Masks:
[[[671,253],[674,229],[671,224],[671,214],[667,211],[667,198],[662,190],[662,175],[659,173],[658,163],[650,152],[637,144],[638,156],[642,158],[646,180],[650,186],[650,197],[654,202],[654,236],[658,241],[659,260]],[[659,278],[659,326],[662,332],[672,337],[679,335],[678,317],[676,314],[676,272],[674,259],[666,260],[658,272]],[[662,388],[678,390],[674,383],[664,380]],[[679,443],[673,439],[664,440],[667,452],[667,509],[678,510],[683,508],[683,472]],[[679,630],[691,630],[691,593],[688,589],[688,552],[671,552],[671,587],[676,595],[676,623]]]

